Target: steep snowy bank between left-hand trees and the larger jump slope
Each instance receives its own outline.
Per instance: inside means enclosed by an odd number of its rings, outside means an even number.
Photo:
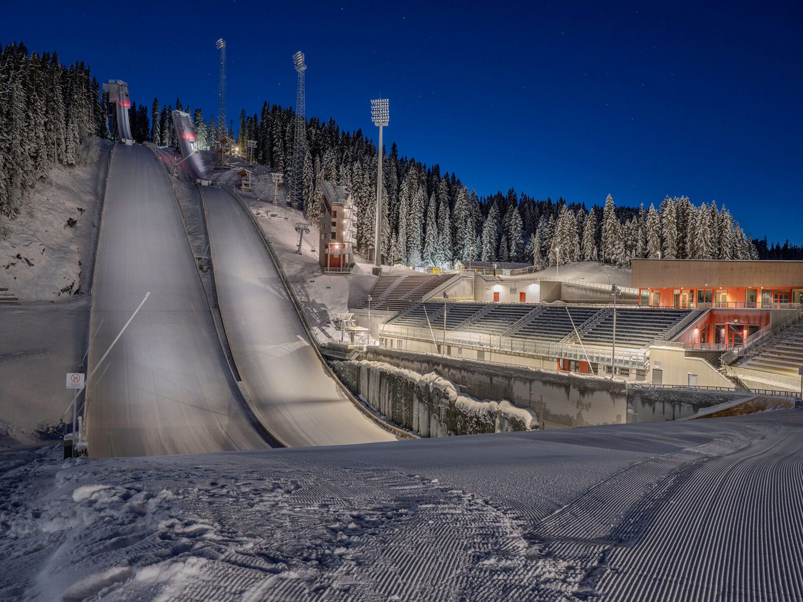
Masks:
[[[53,167],[17,218],[0,218],[0,286],[22,300],[88,291],[111,145],[90,139],[79,165]]]

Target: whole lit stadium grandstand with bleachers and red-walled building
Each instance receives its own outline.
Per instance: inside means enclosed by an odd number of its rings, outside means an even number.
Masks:
[[[615,311],[605,283],[532,270],[390,270],[353,311],[396,351],[657,385],[800,391],[803,262],[762,273],[764,263],[640,260]]]

